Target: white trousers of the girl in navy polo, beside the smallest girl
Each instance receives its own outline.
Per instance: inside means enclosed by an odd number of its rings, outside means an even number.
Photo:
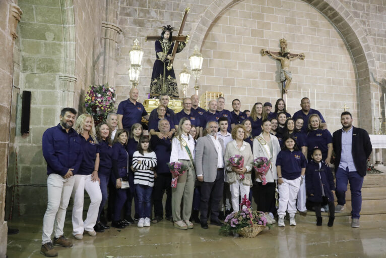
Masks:
[[[296,198],[299,192],[301,177],[293,180],[283,178],[283,183],[279,184],[279,209],[278,215],[285,216],[296,213]]]

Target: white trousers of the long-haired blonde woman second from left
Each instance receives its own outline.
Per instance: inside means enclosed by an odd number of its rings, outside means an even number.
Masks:
[[[102,192],[98,181],[92,182],[91,175],[75,175],[73,190],[73,235],[83,234],[83,231],[93,231],[98,218],[99,205],[102,201]],[[90,196],[90,206],[87,218],[83,222],[83,203],[85,189]]]

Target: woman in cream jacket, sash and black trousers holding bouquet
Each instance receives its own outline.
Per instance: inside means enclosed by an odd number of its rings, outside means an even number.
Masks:
[[[265,173],[263,182],[262,175],[256,173],[256,194],[254,200],[258,204],[258,210],[264,212],[268,222],[275,223],[273,214],[275,211],[275,188],[278,174],[276,172],[276,157],[280,152],[279,140],[271,132],[271,122],[263,121],[263,132],[253,140],[253,160],[258,158],[267,158],[270,162],[269,169]]]

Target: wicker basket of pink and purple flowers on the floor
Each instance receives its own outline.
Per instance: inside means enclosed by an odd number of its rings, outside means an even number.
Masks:
[[[225,218],[225,225],[220,228],[220,234],[225,236],[239,234],[252,238],[266,227],[272,227],[272,224],[267,222],[263,212],[252,211],[246,195],[244,195],[240,207],[242,208],[240,211],[232,212]]]

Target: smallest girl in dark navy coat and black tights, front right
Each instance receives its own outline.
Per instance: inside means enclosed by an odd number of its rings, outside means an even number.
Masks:
[[[305,172],[307,175],[305,179],[308,195],[307,201],[312,202],[314,206],[316,226],[321,226],[321,205],[329,204],[330,219],[328,226],[332,227],[335,219],[335,184],[333,174],[330,168],[322,161],[320,149],[313,149],[311,158],[312,160],[308,162]]]

